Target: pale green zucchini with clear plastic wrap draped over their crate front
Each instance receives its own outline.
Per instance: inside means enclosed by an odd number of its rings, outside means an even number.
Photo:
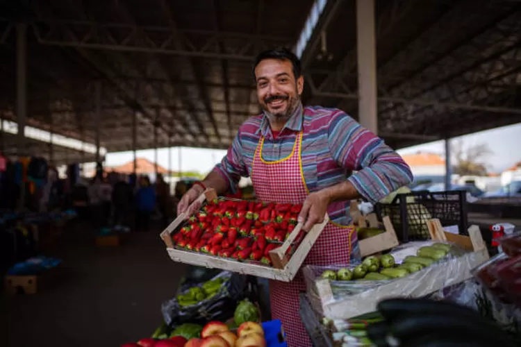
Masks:
[[[324,316],[346,319],[376,310],[383,298],[417,298],[463,282],[487,258],[486,251],[469,253],[448,243],[411,242],[388,255],[367,257],[362,264],[308,265],[304,276],[313,308]]]

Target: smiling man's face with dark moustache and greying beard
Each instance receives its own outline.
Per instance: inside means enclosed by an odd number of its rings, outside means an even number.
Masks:
[[[295,78],[290,60],[265,59],[255,67],[257,97],[274,121],[286,121],[299,102],[304,78]]]

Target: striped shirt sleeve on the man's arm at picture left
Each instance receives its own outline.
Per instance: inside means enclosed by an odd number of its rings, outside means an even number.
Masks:
[[[241,131],[239,130],[228,149],[228,153],[226,153],[222,161],[213,168],[214,172],[217,172],[217,174],[220,174],[222,178],[226,180],[226,189],[231,189],[234,194],[237,191],[240,178],[249,176],[242,156],[240,134]]]

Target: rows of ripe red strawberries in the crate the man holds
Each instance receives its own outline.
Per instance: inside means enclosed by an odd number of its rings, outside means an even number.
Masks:
[[[301,205],[218,198],[207,203],[172,235],[174,247],[271,266],[269,252],[297,225]],[[304,237],[301,233],[286,254]]]

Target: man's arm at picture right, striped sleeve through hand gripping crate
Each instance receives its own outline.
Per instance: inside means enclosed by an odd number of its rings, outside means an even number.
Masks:
[[[358,172],[345,182],[309,194],[299,215],[299,222],[305,221],[302,228],[306,231],[322,223],[333,201],[364,197],[377,202],[413,180],[402,157],[342,111],[331,117],[328,141],[338,165]]]

